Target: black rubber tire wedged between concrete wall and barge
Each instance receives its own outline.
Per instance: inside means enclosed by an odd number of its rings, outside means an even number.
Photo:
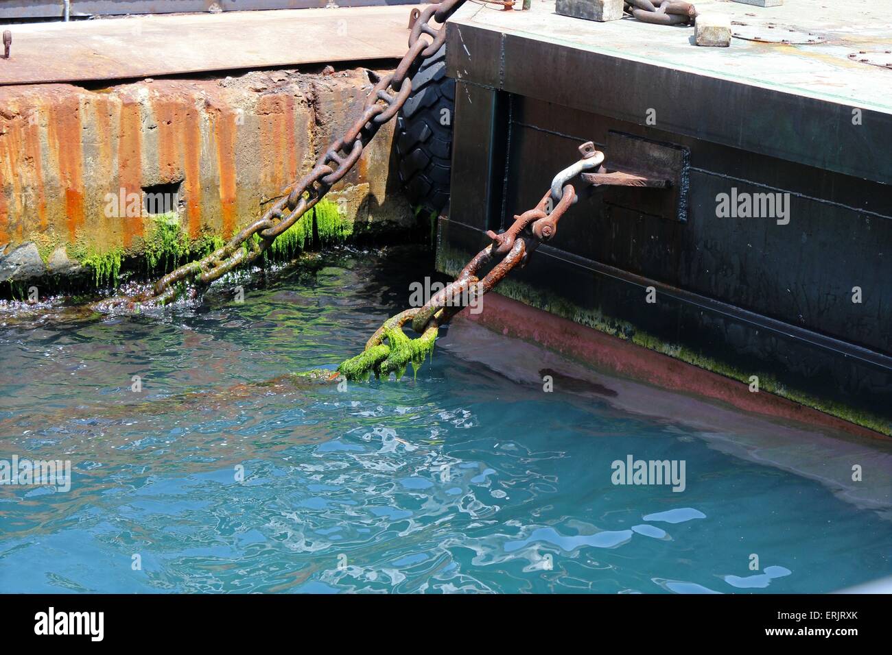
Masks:
[[[449,201],[455,80],[446,77],[446,46],[422,61],[396,119],[402,187],[414,207],[439,213]],[[445,123],[445,125],[444,125]]]

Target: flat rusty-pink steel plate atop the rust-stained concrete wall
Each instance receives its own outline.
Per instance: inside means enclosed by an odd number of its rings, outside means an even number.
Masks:
[[[11,25],[0,85],[401,57],[409,5]]]

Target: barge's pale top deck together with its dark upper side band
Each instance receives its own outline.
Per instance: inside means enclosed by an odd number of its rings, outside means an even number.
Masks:
[[[466,4],[447,24],[448,74],[463,82],[741,151],[892,184],[892,70],[850,57],[892,50],[892,14],[872,0],[759,8],[698,2],[748,26],[820,43],[731,39],[631,17],[605,23]],[[784,26],[780,28],[779,26]],[[754,35],[760,36],[760,35]],[[781,38],[781,40],[783,40]],[[885,61],[877,54],[877,61]],[[655,120],[648,120],[650,115]],[[589,137],[585,137],[589,138]]]

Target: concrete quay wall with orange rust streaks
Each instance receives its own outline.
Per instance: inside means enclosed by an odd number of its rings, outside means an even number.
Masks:
[[[144,190],[176,194],[194,242],[228,238],[309,170],[371,86],[355,69],[0,87],[0,282],[138,256],[154,223]],[[333,190],[345,218],[379,230],[414,223],[391,142],[392,124]]]

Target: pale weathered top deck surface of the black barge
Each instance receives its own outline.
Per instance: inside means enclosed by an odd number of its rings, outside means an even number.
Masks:
[[[892,77],[885,70],[859,66],[848,58],[859,50],[892,50],[892,12],[888,11],[888,2],[786,0],[783,5],[770,8],[717,0],[694,4],[701,12],[723,12],[747,26],[765,26],[766,35],[771,31],[769,24],[782,25],[784,29],[814,34],[823,42],[789,47],[732,39],[730,48],[698,47],[691,44],[694,29],[690,27],[648,25],[632,18],[599,23],[559,16],[552,0],[533,0],[529,12],[502,12],[466,4],[453,21],[621,59],[892,112]]]

